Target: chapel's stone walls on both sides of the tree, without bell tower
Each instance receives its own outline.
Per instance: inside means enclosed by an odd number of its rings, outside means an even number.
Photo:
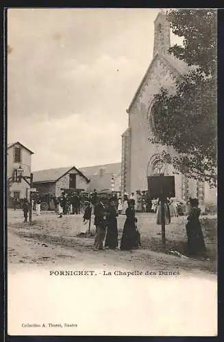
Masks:
[[[153,135],[153,120],[151,120],[153,96],[160,92],[161,87],[168,88],[171,93],[175,92],[177,77],[179,77],[179,73],[175,73],[175,70],[170,68],[162,57],[155,57],[149,68],[149,73],[142,82],[134,103],[132,103],[129,111],[129,129],[132,131],[132,137],[129,150],[125,151],[125,158],[130,159],[130,165],[125,164],[124,161],[122,165],[122,190],[125,189],[129,194],[136,192],[136,189],[147,189],[147,168],[153,155],[161,153],[164,149],[175,154],[173,148],[151,144],[149,137]],[[123,153],[125,141],[123,137]],[[169,166],[167,174],[173,175],[174,171],[173,167]],[[126,181],[126,183],[125,172],[129,175],[129,182]],[[175,195],[184,200],[189,197],[198,197],[202,211],[205,210],[206,203],[216,202],[216,190],[210,189],[208,183],[186,179],[182,174],[175,174]]]

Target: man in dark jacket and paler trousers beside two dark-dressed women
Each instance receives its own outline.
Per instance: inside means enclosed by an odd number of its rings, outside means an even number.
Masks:
[[[94,224],[96,226],[96,237],[93,249],[94,250],[103,250],[103,240],[105,239],[105,229],[107,225],[106,221],[107,211],[105,205],[101,200],[97,202],[95,205],[95,221]]]

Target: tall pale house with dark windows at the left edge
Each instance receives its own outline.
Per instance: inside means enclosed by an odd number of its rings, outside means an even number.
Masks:
[[[24,170],[23,176],[30,176],[33,154],[34,152],[21,142],[8,144],[8,196],[14,198],[27,197],[29,185],[23,179],[20,183],[17,182],[17,169],[21,165]]]

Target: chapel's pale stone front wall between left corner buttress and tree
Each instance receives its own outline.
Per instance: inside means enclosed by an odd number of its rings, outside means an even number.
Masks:
[[[161,87],[175,91],[175,77],[178,75],[169,68],[166,62],[155,57],[151,64],[149,73],[142,83],[140,93],[136,97],[129,113],[129,124],[132,129],[131,142],[131,168],[130,185],[127,192],[135,192],[136,189],[147,189],[147,166],[152,155],[160,153],[164,147],[151,144],[149,137],[152,130],[149,124],[151,103],[154,94],[160,91]]]

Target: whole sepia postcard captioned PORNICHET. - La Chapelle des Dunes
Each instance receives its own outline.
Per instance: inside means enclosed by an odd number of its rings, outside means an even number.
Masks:
[[[8,334],[217,335],[217,10],[7,11]]]

